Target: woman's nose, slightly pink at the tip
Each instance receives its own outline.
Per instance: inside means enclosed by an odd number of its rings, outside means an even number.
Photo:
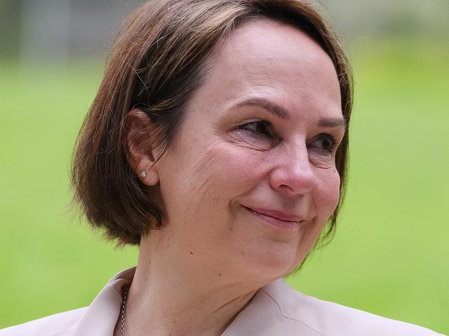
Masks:
[[[269,175],[271,188],[289,196],[307,195],[314,188],[316,175],[305,144],[284,148],[274,160],[276,163]]]

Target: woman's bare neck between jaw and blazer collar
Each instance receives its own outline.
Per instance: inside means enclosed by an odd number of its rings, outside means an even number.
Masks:
[[[195,258],[189,248],[166,246],[161,235],[153,231],[142,238],[125,334],[221,335],[265,283],[204,262],[207,253]],[[117,326],[120,330],[120,320]]]

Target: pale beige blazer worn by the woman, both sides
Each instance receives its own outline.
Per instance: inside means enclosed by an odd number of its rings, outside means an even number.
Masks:
[[[85,308],[0,330],[0,336],[112,336],[122,291],[135,268],[124,270]],[[222,336],[437,336],[432,330],[309,297],[278,279],[260,288]]]

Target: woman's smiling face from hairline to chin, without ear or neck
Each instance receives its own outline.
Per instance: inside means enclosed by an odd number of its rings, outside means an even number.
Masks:
[[[157,162],[164,230],[180,258],[276,279],[338,203],[336,71],[305,33],[270,20],[243,24],[216,51]]]

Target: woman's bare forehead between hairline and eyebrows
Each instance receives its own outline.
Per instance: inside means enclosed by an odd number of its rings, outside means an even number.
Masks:
[[[200,89],[208,103],[236,103],[245,97],[334,110],[341,115],[334,64],[305,32],[269,19],[243,23],[217,46]]]

